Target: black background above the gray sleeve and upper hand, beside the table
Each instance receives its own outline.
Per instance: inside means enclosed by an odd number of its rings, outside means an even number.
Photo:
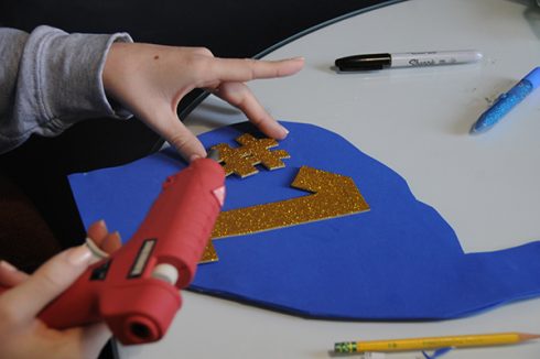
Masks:
[[[76,1],[4,0],[4,25],[67,32],[129,32],[138,42],[206,46],[216,56],[251,57],[298,32],[380,0]]]

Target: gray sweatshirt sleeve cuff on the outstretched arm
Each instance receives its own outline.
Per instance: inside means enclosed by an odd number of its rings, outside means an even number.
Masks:
[[[102,69],[126,33],[67,34],[39,26],[32,33],[0,28],[0,153],[31,134],[60,134],[79,120],[128,118],[108,101]]]

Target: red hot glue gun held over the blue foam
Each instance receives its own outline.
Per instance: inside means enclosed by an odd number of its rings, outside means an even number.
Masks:
[[[55,329],[105,322],[122,344],[159,340],[210,237],[224,182],[222,166],[210,159],[170,176],[133,237],[89,266],[39,318]],[[10,292],[0,295],[0,303]]]

